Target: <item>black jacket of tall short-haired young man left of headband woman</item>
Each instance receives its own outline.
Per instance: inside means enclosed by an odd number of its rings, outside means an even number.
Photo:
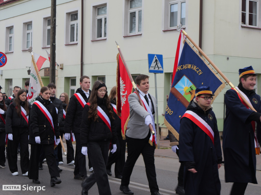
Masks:
[[[85,93],[81,88],[78,88],[76,90],[76,93],[80,93],[83,99],[86,101],[86,103],[88,102],[91,96],[91,90],[89,90],[90,95],[88,98],[86,97]],[[82,110],[82,105],[77,100],[76,96],[73,95],[70,98],[69,105],[67,108],[66,118],[64,121],[64,133],[70,133],[71,131],[73,133],[80,133]]]

